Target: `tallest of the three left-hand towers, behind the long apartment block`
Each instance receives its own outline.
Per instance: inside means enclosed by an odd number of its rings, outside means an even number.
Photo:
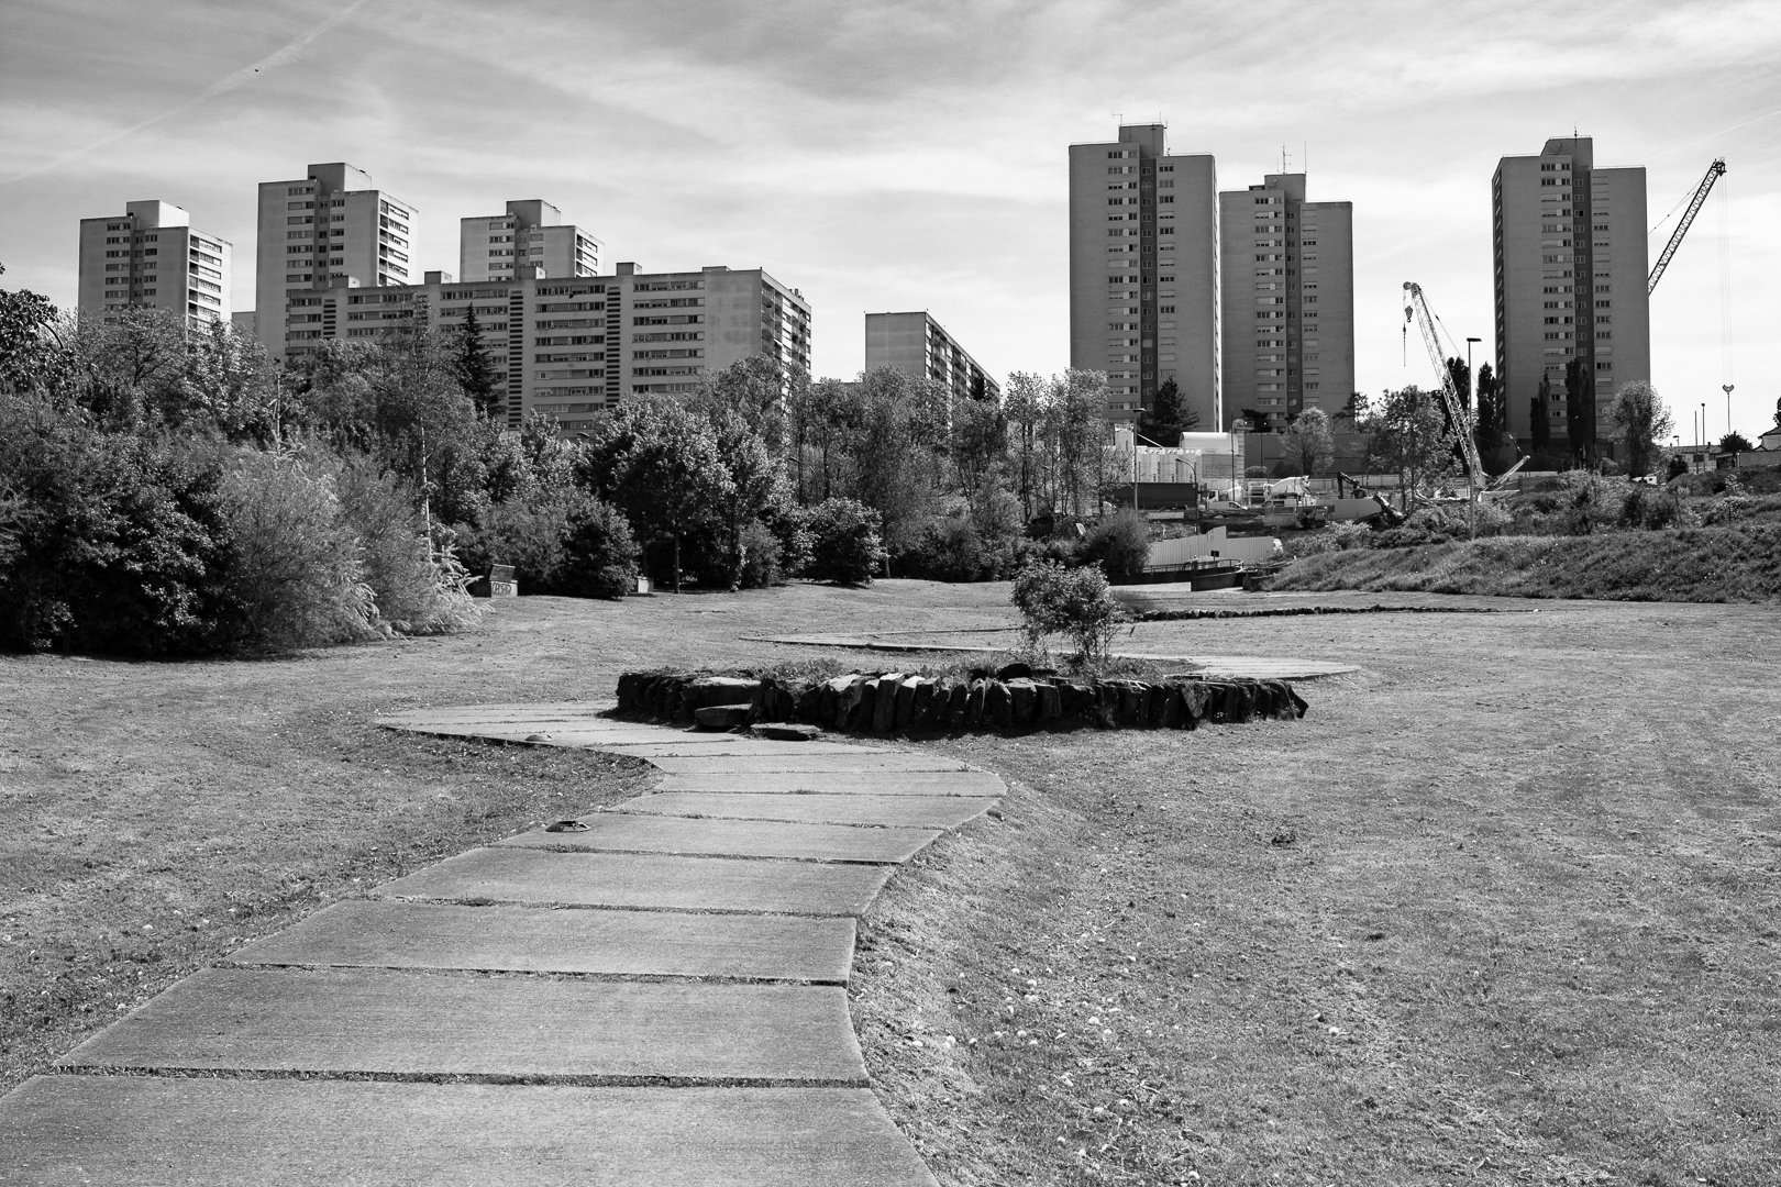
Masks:
[[[322,294],[337,283],[406,285],[413,217],[413,206],[344,162],[262,182],[255,322],[267,352],[308,352],[322,336]]]

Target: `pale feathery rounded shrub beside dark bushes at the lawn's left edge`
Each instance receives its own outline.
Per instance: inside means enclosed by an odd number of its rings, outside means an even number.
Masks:
[[[223,482],[240,605],[240,642],[308,648],[378,632],[365,546],[333,475],[294,454],[242,454]]]

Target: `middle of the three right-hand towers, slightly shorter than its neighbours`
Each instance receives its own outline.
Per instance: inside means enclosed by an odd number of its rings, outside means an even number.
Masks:
[[[1305,174],[1218,194],[1224,422],[1279,429],[1354,393],[1354,203],[1305,201]],[[1257,425],[1261,427],[1261,425]]]

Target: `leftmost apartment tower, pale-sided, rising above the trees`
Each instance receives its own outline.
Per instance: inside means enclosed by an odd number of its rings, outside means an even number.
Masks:
[[[80,311],[103,317],[139,306],[228,319],[230,242],[192,230],[191,215],[171,203],[123,206],[121,215],[80,221]]]

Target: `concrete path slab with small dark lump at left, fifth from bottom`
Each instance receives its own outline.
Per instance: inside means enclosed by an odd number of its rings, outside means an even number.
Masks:
[[[778,820],[684,820],[598,812],[581,817],[586,833],[533,829],[500,845],[618,852],[687,852],[716,858],[796,858],[805,861],[901,863],[939,833],[917,828],[851,828]]]

